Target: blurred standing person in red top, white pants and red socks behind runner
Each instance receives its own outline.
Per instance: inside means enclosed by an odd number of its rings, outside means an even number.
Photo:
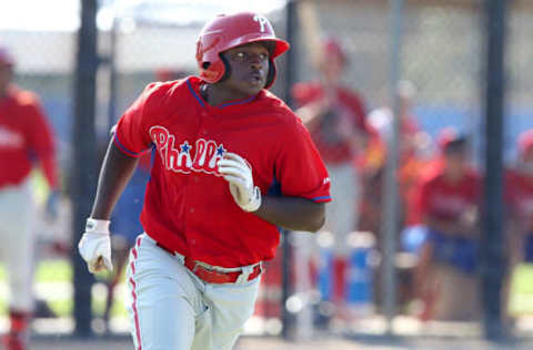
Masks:
[[[335,198],[326,207],[324,230],[334,234],[333,299],[345,298],[346,235],[358,226],[361,183],[355,158],[362,156],[371,135],[365,123],[365,107],[360,95],[343,86],[348,58],[334,39],[322,43],[318,63],[320,79],[298,83],[292,96],[295,113],[310,131],[331,177],[331,193]]]

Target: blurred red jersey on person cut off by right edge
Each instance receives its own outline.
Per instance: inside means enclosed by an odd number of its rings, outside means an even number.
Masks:
[[[533,230],[533,176],[526,176],[515,171],[505,174],[505,199],[512,217],[527,224],[527,230]]]

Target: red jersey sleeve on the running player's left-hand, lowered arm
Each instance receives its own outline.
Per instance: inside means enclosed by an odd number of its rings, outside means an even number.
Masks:
[[[158,83],[148,85],[117,124],[113,142],[129,156],[140,157],[150,151],[151,116],[157,115],[160,105],[158,87]]]

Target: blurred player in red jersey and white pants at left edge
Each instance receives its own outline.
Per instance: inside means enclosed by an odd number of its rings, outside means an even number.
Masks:
[[[6,259],[11,298],[8,350],[27,349],[33,311],[33,219],[29,175],[39,165],[52,189],[47,212],[56,212],[58,169],[52,131],[37,96],[11,83],[14,59],[0,47],[0,254]],[[14,220],[13,220],[14,219]]]

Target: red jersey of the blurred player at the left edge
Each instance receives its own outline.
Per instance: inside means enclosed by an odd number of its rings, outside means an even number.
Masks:
[[[56,187],[52,131],[37,96],[11,86],[0,97],[0,188],[20,184],[36,161],[49,185]]]

